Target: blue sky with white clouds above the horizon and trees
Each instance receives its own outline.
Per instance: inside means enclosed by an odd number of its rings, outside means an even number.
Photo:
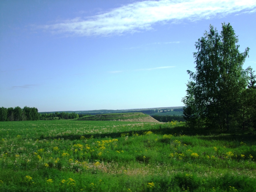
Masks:
[[[256,70],[256,1],[0,1],[0,107],[183,106],[195,42],[230,23]]]

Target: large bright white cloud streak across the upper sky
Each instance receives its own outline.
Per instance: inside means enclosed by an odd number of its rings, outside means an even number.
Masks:
[[[255,0],[142,1],[92,17],[77,17],[38,28],[67,36],[110,36],[150,30],[156,23],[195,21],[255,11]]]

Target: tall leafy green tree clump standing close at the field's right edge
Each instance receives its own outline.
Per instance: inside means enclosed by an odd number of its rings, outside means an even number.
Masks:
[[[220,34],[210,25],[198,39],[196,72],[187,71],[184,119],[194,128],[256,130],[256,80],[253,69],[242,68],[249,48],[240,53],[230,24]]]

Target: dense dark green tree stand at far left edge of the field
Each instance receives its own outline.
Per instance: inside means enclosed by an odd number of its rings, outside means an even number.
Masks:
[[[19,106],[13,108],[0,108],[0,121],[36,121],[39,119],[39,113],[35,107],[25,106],[23,109]]]

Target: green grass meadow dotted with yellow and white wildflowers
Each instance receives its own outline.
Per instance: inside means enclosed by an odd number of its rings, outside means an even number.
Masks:
[[[0,122],[0,191],[256,191],[255,135],[184,123]]]

